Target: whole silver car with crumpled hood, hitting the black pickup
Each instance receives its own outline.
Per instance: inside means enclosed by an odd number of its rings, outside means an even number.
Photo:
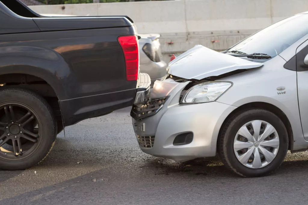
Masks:
[[[141,150],[177,161],[220,155],[239,175],[276,170],[308,148],[308,12],[224,52],[201,45],[169,63],[132,108]]]

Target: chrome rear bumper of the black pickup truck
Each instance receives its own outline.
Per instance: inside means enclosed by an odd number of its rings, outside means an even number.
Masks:
[[[146,104],[150,97],[151,78],[146,73],[140,73],[134,105]]]

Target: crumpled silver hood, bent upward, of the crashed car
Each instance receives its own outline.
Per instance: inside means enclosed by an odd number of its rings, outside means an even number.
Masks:
[[[196,45],[176,57],[168,65],[168,73],[185,79],[201,80],[239,69],[251,69],[263,64],[220,53],[202,45]]]

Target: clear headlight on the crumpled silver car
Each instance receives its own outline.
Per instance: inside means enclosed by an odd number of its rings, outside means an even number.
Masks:
[[[231,82],[205,82],[191,87],[183,97],[182,103],[205,103],[216,101],[232,86]]]

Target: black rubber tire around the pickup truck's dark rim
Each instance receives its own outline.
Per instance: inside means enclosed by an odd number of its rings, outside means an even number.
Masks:
[[[1,106],[6,106],[5,104],[7,103],[17,103],[28,108],[28,110],[31,111],[31,117],[34,117],[36,122],[39,122],[38,124],[40,125],[40,131],[35,147],[31,152],[29,151],[27,154],[26,151],[24,152],[25,154],[20,154],[19,156],[16,156],[16,159],[14,159],[14,154],[13,157],[8,158],[8,155],[3,155],[0,150],[0,169],[23,170],[30,168],[45,159],[45,157],[51,151],[56,140],[57,122],[47,101],[32,91],[26,89],[2,89],[0,90],[0,108]],[[22,108],[23,107],[20,109]],[[18,120],[16,121],[18,122]],[[20,128],[20,130],[22,129],[23,127]],[[20,133],[22,133],[22,131],[20,131]]]

